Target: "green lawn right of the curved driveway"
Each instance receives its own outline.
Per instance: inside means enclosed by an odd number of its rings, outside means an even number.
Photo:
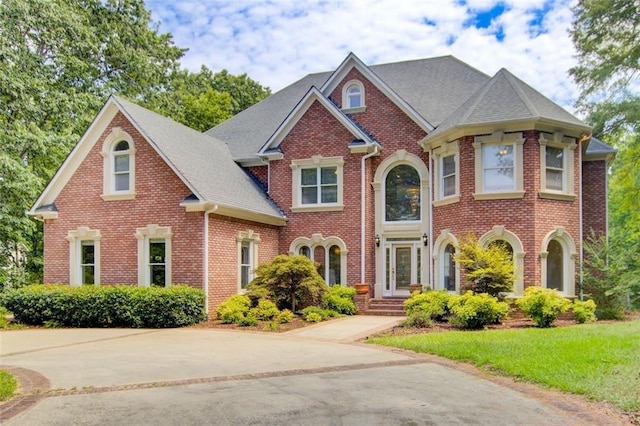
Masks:
[[[640,413],[640,320],[384,336],[368,342],[469,362]]]

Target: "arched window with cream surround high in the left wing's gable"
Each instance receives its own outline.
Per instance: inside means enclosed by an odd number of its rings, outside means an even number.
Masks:
[[[115,127],[102,145],[105,201],[135,198],[135,145],[133,138]]]

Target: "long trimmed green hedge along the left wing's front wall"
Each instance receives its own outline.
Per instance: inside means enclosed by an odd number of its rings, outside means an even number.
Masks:
[[[23,324],[62,327],[183,327],[204,321],[204,292],[184,285],[30,285],[0,294]]]

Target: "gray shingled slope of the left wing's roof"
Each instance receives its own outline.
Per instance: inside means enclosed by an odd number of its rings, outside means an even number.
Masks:
[[[224,142],[122,98],[113,100],[201,201],[284,217],[231,159]]]

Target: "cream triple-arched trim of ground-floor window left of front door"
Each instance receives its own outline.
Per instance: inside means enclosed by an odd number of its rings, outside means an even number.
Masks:
[[[318,247],[324,249],[324,259],[315,259],[314,254]],[[336,251],[338,251],[338,253],[336,253]],[[312,260],[323,264],[325,266],[324,272],[327,284],[332,285],[339,283],[343,287],[347,285],[347,254],[349,251],[341,238],[333,236],[324,238],[322,234],[313,234],[311,238],[298,237],[289,245],[289,253],[304,254]],[[331,277],[331,271],[335,271],[335,269],[331,268],[331,264],[335,261],[339,261],[339,277]]]

